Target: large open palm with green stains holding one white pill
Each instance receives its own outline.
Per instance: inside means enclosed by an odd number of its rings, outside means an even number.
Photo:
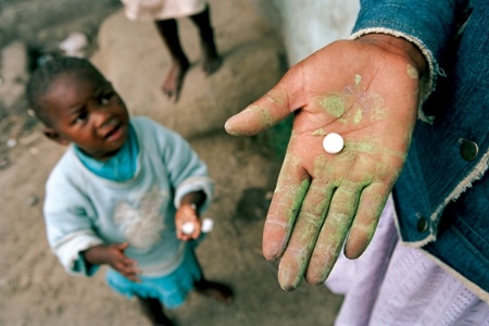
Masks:
[[[227,121],[230,135],[254,135],[294,114],[263,233],[284,289],[324,283],[343,246],[350,259],[368,246],[408,153],[425,70],[401,38],[337,41]],[[329,133],[344,140],[337,154],[323,149]]]

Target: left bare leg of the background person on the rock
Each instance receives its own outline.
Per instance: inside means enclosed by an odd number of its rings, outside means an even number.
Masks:
[[[155,24],[172,57],[172,66],[163,83],[162,90],[170,99],[176,102],[190,63],[180,45],[177,22],[175,20],[164,20],[155,21]]]

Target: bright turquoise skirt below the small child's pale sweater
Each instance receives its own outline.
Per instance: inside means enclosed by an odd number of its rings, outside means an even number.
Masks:
[[[202,272],[193,254],[193,246],[186,246],[184,261],[171,274],[161,277],[140,276],[140,283],[131,281],[109,268],[106,283],[116,292],[133,298],[159,299],[168,309],[180,306],[193,289],[193,283],[202,278]]]

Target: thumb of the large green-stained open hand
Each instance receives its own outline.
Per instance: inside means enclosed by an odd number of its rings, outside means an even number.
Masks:
[[[292,87],[296,80],[297,67],[292,67],[281,80],[266,95],[248,105],[240,113],[229,117],[224,126],[226,131],[233,136],[256,135],[285,120],[292,111],[300,108],[294,103],[301,98],[300,87]]]

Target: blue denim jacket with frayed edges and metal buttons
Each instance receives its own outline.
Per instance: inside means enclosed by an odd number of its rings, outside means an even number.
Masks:
[[[435,120],[417,123],[393,191],[402,240],[488,298],[489,1],[364,0],[361,5],[354,33],[381,27],[415,38],[432,55],[435,70],[443,72],[423,108]],[[472,161],[461,154],[466,140],[478,147]]]

